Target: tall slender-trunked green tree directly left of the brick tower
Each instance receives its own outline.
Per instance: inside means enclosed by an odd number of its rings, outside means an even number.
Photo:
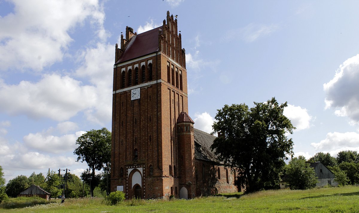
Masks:
[[[95,170],[101,170],[109,167],[111,161],[111,132],[106,128],[99,130],[92,129],[77,138],[74,154],[78,155],[77,161],[86,162],[91,169],[91,196],[95,188]],[[106,166],[104,166],[106,165]]]

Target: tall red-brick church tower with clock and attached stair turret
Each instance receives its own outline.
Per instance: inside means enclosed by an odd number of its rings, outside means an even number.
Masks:
[[[111,191],[126,198],[196,196],[193,120],[177,19],[126,27],[113,67]]]

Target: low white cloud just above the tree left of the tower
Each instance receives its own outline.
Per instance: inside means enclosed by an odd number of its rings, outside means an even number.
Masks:
[[[63,136],[52,136],[44,133],[29,133],[24,136],[24,144],[37,151],[61,153],[73,151],[76,145],[76,139],[84,134],[84,131],[75,134],[65,134]]]

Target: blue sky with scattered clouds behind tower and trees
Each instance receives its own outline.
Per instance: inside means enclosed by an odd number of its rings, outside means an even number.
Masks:
[[[76,138],[111,130],[115,43],[178,15],[188,108],[288,101],[296,155],[359,151],[358,1],[0,0],[0,165],[7,180],[87,166]]]

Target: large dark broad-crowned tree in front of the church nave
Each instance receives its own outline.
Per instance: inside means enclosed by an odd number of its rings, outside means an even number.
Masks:
[[[283,115],[287,103],[275,98],[256,103],[224,105],[217,110],[214,133],[218,137],[211,146],[220,161],[237,167],[237,185],[246,192],[276,188],[288,157],[293,155],[293,133],[290,120]]]

